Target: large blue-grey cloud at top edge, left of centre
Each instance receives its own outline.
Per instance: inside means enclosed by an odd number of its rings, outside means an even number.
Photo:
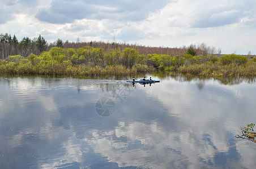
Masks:
[[[143,20],[150,12],[164,7],[168,0],[150,1],[81,1],[54,0],[50,8],[44,8],[36,18],[48,23],[72,23],[75,19],[110,19],[122,21]]]

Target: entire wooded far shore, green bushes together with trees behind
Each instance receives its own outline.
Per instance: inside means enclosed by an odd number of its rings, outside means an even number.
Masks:
[[[1,74],[31,75],[126,75],[173,71],[204,76],[256,75],[256,58],[221,55],[221,50],[204,43],[179,48],[146,47],[126,43],[56,42],[44,37],[18,41],[0,35]]]

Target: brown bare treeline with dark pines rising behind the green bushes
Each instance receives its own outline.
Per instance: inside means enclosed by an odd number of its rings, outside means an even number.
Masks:
[[[150,46],[141,46],[136,44],[129,43],[116,43],[116,42],[80,42],[79,38],[76,42],[62,41],[62,39],[57,39],[54,43],[47,43],[44,37],[39,35],[37,38],[28,38],[24,37],[21,41],[18,41],[15,34],[11,36],[10,34],[0,34],[0,58],[6,59],[10,55],[21,55],[27,57],[30,54],[39,55],[42,51],[49,51],[52,47],[62,47],[62,48],[82,48],[85,46],[93,48],[103,48],[105,51],[109,51],[114,48],[120,48],[121,51],[125,48],[135,49],[139,55],[147,54],[165,54],[170,56],[176,56],[185,54],[189,47],[150,47]],[[197,55],[208,55],[208,54],[221,54],[220,48],[216,50],[215,47],[208,47],[205,43],[202,43],[198,46],[193,46]]]

